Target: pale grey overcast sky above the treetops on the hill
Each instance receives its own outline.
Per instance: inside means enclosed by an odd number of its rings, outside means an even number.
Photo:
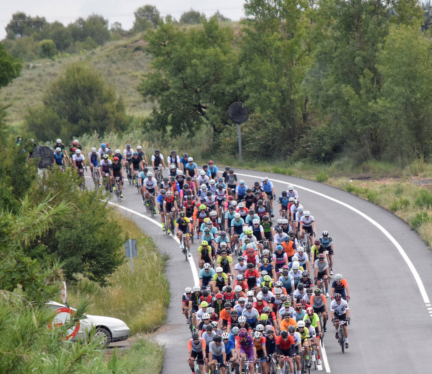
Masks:
[[[110,25],[120,22],[123,29],[130,29],[133,24],[133,11],[140,6],[151,4],[156,5],[161,16],[171,14],[175,19],[179,19],[181,13],[194,10],[205,13],[206,16],[213,15],[217,10],[224,16],[233,21],[244,16],[244,0],[184,0],[181,2],[174,0],[159,0],[157,3],[145,0],[20,0],[1,1],[0,12],[0,40],[6,37],[5,27],[12,19],[12,14],[22,11],[30,16],[45,17],[48,22],[58,20],[67,26],[78,17],[86,18],[92,13],[101,14],[107,18]]]

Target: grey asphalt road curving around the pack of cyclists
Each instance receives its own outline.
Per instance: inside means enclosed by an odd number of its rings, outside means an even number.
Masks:
[[[428,292],[432,289],[432,253],[419,235],[394,214],[340,189],[281,174],[240,169],[235,172],[249,186],[268,176],[278,195],[288,182],[295,185],[300,203],[315,218],[317,233],[328,230],[334,240],[334,272],[341,273],[349,284],[351,324],[349,348],[342,354],[334,328],[327,323],[324,345],[329,365],[323,365],[323,372],[430,372],[432,307]],[[86,182],[91,183],[89,179]],[[161,253],[170,256],[166,276],[170,281],[171,304],[167,324],[156,334],[166,348],[162,373],[190,373],[186,363],[190,334],[181,314],[181,295],[185,287],[194,285],[191,267],[178,243],[157,225],[159,214],[152,221],[145,213],[137,189],[125,185],[124,196],[119,204],[121,212],[137,221]],[[114,197],[111,201],[117,204]],[[273,223],[277,218],[276,215]],[[191,252],[196,267],[196,242]],[[419,283],[403,252],[418,272]],[[415,334],[419,339],[413,341]]]

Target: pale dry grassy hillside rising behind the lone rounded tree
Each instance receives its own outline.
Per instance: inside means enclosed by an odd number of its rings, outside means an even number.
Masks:
[[[148,114],[152,105],[144,103],[136,90],[141,74],[149,70],[149,56],[143,52],[145,44],[137,35],[127,40],[108,42],[79,55],[65,55],[55,61],[40,60],[32,67],[24,64],[21,77],[0,91],[1,103],[10,105],[7,109],[8,122],[20,127],[27,108],[41,104],[46,87],[64,70],[66,64],[75,61],[86,61],[105,77],[107,83],[113,84],[117,95],[123,98],[128,114],[138,117]]]

